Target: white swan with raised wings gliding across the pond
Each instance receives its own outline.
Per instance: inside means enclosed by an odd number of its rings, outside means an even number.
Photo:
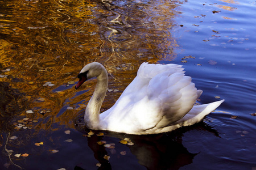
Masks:
[[[97,77],[97,85],[85,110],[85,124],[93,130],[127,134],[158,134],[203,120],[224,100],[194,105],[197,90],[180,65],[142,63],[138,74],[112,108],[100,114],[108,88],[108,73],[98,62],[89,63],[78,75],[76,89]]]

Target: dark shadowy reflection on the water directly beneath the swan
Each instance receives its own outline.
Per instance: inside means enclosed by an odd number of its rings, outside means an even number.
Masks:
[[[88,134],[92,132],[81,126],[83,122],[79,120],[76,124],[77,130],[81,133]],[[113,131],[93,131],[94,134],[104,133],[104,136],[92,135],[87,137],[88,146],[94,153],[94,158],[98,160],[101,167],[98,169],[112,169],[112,163],[117,164],[118,160],[112,162],[104,159],[105,155],[110,155],[108,148],[104,145],[98,145],[99,141],[129,139],[134,145],[129,147],[131,154],[136,156],[138,163],[146,169],[179,169],[184,165],[191,164],[194,157],[200,153],[191,153],[182,144],[183,134],[191,130],[204,130],[219,137],[218,132],[204,122],[199,124],[183,127],[170,133],[152,134],[152,135],[130,135],[115,133]],[[110,152],[111,153],[111,152]],[[114,168],[115,169],[115,168]]]

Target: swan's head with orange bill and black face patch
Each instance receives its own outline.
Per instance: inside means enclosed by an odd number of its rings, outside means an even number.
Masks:
[[[98,62],[92,62],[84,66],[84,68],[82,68],[82,70],[80,71],[79,75],[77,75],[77,78],[79,78],[79,82],[76,84],[75,88],[79,88],[82,83],[84,83],[86,80],[93,78],[94,76],[98,77],[99,75],[101,75],[103,70],[106,69],[104,68],[104,66],[101,65],[101,63]]]

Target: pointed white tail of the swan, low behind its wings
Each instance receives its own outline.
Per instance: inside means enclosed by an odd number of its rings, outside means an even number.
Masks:
[[[179,121],[176,121],[177,124],[180,126],[190,126],[196,124],[203,120],[207,114],[214,111],[221,103],[224,102],[223,100],[215,101],[209,104],[202,104],[202,105],[195,105],[191,111],[189,111],[183,118]]]

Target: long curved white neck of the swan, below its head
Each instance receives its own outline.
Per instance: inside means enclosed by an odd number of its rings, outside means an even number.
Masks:
[[[89,129],[98,129],[100,123],[100,109],[106,96],[108,88],[108,73],[105,68],[102,69],[100,75],[97,76],[97,84],[85,110],[85,124]]]

